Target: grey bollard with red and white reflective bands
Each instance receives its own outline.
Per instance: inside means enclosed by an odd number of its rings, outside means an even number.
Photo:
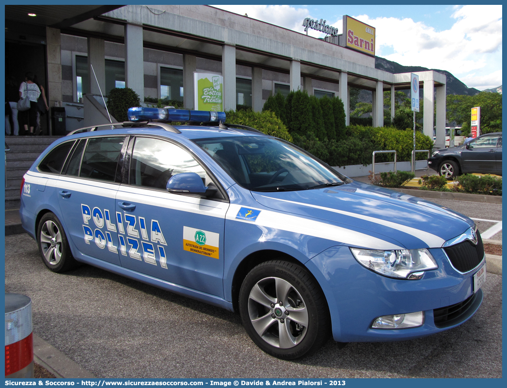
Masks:
[[[5,377],[33,378],[31,299],[5,294]]]

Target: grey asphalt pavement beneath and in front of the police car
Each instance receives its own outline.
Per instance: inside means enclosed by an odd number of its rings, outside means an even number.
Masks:
[[[90,266],[46,269],[26,234],[6,237],[6,292],[32,299],[33,330],[96,377],[501,377],[502,278],[462,326],[418,340],[330,340],[313,357],[270,357],[238,315]]]

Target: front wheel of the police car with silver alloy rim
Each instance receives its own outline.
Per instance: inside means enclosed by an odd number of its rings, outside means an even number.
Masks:
[[[239,292],[239,312],[253,342],[279,359],[315,352],[328,339],[327,303],[302,267],[269,261],[253,268]]]

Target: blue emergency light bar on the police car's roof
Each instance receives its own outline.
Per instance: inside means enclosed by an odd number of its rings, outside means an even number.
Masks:
[[[186,122],[225,122],[225,112],[191,111],[172,108],[129,108],[130,121],[186,121]]]

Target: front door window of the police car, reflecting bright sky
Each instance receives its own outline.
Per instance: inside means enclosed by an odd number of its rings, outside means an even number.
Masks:
[[[161,139],[135,139],[129,184],[165,190],[173,175],[189,172],[199,175],[205,185],[211,182],[202,166],[183,148]]]

